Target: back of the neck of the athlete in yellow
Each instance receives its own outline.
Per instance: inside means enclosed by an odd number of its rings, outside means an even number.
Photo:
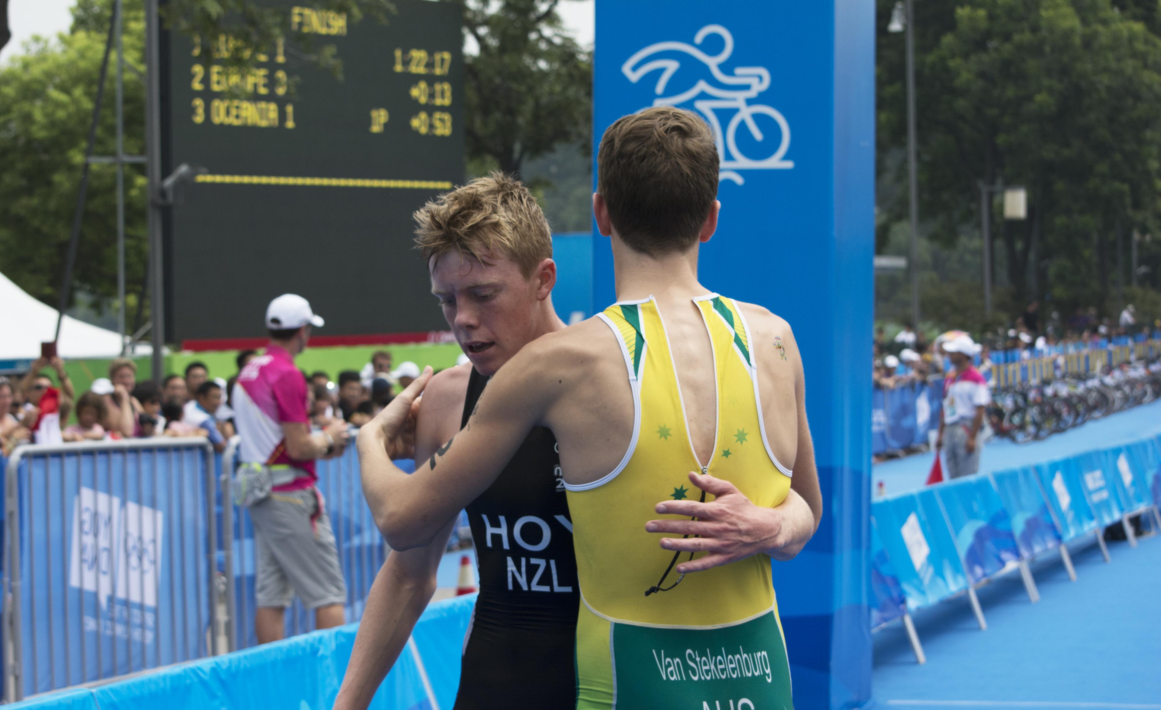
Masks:
[[[702,296],[709,291],[698,282],[698,249],[658,257],[629,249],[613,231],[613,271],[616,300],[636,301],[656,296],[661,301]]]

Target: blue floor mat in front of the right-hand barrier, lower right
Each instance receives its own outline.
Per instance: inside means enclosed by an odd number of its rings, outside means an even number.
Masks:
[[[1091,539],[1075,582],[1055,554],[1033,565],[1036,604],[1018,573],[981,588],[987,631],[966,596],[921,610],[924,666],[901,625],[875,633],[872,707],[1161,710],[1161,536],[1110,543],[1110,564]]]

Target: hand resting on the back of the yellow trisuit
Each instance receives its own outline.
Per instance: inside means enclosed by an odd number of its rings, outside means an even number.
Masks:
[[[646,524],[648,532],[688,536],[662,538],[661,546],[665,550],[708,553],[679,564],[679,574],[728,565],[784,546],[784,525],[777,508],[755,505],[734,483],[707,473],[691,472],[690,481],[714,500],[708,503],[663,501],[657,503],[656,510],[698,519],[662,519]]]

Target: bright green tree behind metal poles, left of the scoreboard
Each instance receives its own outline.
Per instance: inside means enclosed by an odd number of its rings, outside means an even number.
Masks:
[[[127,12],[125,59],[143,66],[142,14]],[[93,116],[108,24],[74,29],[57,42],[34,40],[0,69],[0,272],[37,299],[57,304],[64,253]],[[95,153],[115,155],[115,55],[104,88]],[[125,152],[142,155],[145,107],[139,80],[125,72]],[[81,223],[75,287],[116,295],[116,174],[93,165]],[[125,167],[125,271],[130,291],[145,275],[145,178]],[[139,286],[138,286],[139,287]],[[75,289],[74,289],[75,293]]]

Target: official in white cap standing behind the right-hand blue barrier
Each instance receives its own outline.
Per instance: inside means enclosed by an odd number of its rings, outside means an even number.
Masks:
[[[980,430],[985,408],[991,403],[991,390],[972,358],[980,351],[972,338],[961,335],[943,344],[956,370],[944,380],[944,400],[936,449],[943,449],[947,478],[972,475],[980,469]]]

